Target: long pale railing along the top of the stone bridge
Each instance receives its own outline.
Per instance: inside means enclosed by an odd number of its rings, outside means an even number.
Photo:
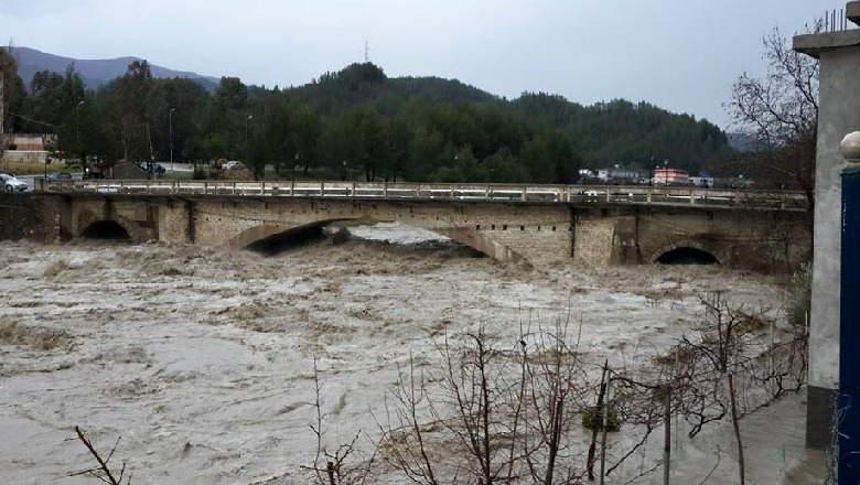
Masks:
[[[256,197],[332,197],[541,202],[563,204],[653,204],[743,206],[805,211],[802,192],[696,187],[424,184],[404,182],[203,182],[203,181],[40,181],[36,192],[129,195],[225,195]]]

